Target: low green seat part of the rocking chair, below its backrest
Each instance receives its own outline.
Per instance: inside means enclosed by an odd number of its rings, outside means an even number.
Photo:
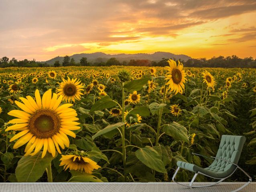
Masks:
[[[234,170],[236,169],[236,166],[230,164],[230,168],[228,168],[225,171],[213,170],[212,168],[209,168],[209,167],[201,168],[197,165],[183,162],[183,161],[178,161],[177,166],[179,166],[180,168],[192,171],[192,172],[196,172],[196,173],[201,172],[203,174],[206,174],[207,176],[219,178],[219,179],[226,178],[226,177],[230,176],[232,174],[232,172],[234,172]]]

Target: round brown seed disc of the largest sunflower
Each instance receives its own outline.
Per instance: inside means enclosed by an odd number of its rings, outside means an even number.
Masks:
[[[28,128],[37,138],[50,138],[61,127],[59,116],[49,109],[37,110],[29,119]]]

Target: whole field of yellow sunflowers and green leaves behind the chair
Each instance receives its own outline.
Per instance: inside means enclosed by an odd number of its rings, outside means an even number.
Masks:
[[[0,181],[170,182],[178,160],[209,166],[193,153],[215,156],[223,134],[246,136],[255,176],[256,70],[168,62],[0,69]]]

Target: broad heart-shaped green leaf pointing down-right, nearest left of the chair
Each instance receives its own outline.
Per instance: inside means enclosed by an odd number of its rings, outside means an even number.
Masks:
[[[156,170],[161,173],[167,173],[165,165],[161,160],[161,156],[154,148],[146,146],[140,148],[135,152],[136,157],[149,168]]]

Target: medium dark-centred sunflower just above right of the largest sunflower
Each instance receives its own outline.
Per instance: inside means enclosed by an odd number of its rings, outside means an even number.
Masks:
[[[64,78],[62,80],[63,82],[59,83],[60,86],[56,90],[57,95],[62,95],[63,100],[65,100],[66,102],[69,102],[70,100],[75,102],[75,99],[80,100],[82,95],[81,91],[83,91],[83,86],[82,84],[80,84],[81,81],[77,80],[76,78],[72,78],[72,80],[70,80],[69,77],[67,80],[65,80]]]

